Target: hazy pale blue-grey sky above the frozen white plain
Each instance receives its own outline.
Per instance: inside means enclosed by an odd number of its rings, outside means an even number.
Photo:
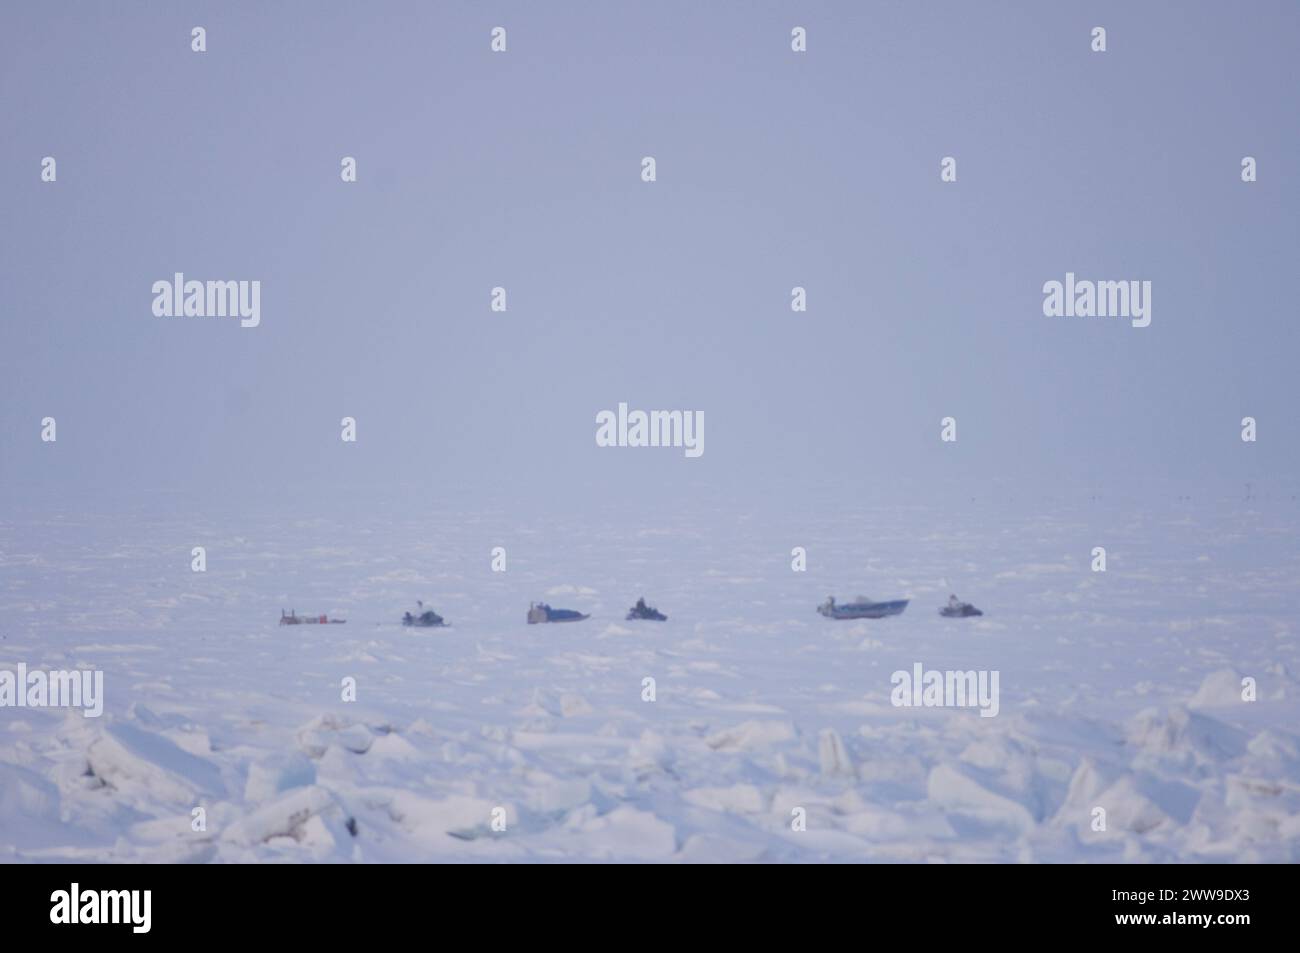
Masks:
[[[1297,91],[1290,0],[13,0],[0,481],[1294,481]],[[261,325],[155,317],[174,272],[260,281]],[[1066,272],[1150,281],[1150,326],[1045,317]],[[619,402],[703,411],[703,456],[597,447]]]

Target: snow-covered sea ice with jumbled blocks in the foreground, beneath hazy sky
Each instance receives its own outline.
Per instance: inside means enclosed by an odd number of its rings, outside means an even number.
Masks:
[[[18,508],[0,668],[101,670],[104,714],[0,710],[0,859],[1300,859],[1295,503],[963,507]],[[913,605],[815,612],[859,589]],[[987,615],[940,618],[953,590]],[[642,594],[668,621],[623,618]],[[402,627],[416,598],[452,625]],[[997,716],[894,707],[915,663],[998,671]]]

